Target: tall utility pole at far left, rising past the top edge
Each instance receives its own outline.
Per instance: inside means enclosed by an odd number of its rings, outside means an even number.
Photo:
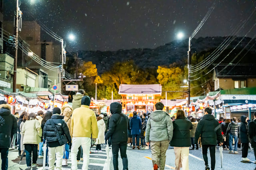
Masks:
[[[16,75],[17,75],[17,58],[18,58],[18,19],[19,19],[19,0],[16,0],[16,14],[15,14],[15,56],[13,69],[13,84],[12,92],[16,93]]]

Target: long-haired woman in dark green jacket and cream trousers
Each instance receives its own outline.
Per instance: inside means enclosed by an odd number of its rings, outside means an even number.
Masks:
[[[174,146],[175,169],[188,170],[188,154],[191,146],[190,129],[192,123],[186,118],[184,111],[178,110],[177,117],[172,122],[173,136],[171,146]]]

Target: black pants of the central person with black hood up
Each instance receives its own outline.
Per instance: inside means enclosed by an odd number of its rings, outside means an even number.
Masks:
[[[123,162],[123,170],[128,170],[128,159],[126,155],[127,142],[112,142],[113,166],[114,170],[118,170],[118,152]]]

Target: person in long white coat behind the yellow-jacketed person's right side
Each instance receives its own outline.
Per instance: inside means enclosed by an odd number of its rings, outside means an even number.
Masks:
[[[106,125],[105,122],[103,120],[104,115],[99,115],[97,118],[97,124],[98,124],[98,138],[96,139],[96,149],[95,150],[99,150],[100,152],[102,152],[101,150],[101,146],[100,144],[104,144],[105,143],[105,138],[104,138],[104,133],[106,130]]]

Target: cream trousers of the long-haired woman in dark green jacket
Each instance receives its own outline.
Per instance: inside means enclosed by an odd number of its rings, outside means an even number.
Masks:
[[[188,170],[189,147],[174,147],[175,170]]]

